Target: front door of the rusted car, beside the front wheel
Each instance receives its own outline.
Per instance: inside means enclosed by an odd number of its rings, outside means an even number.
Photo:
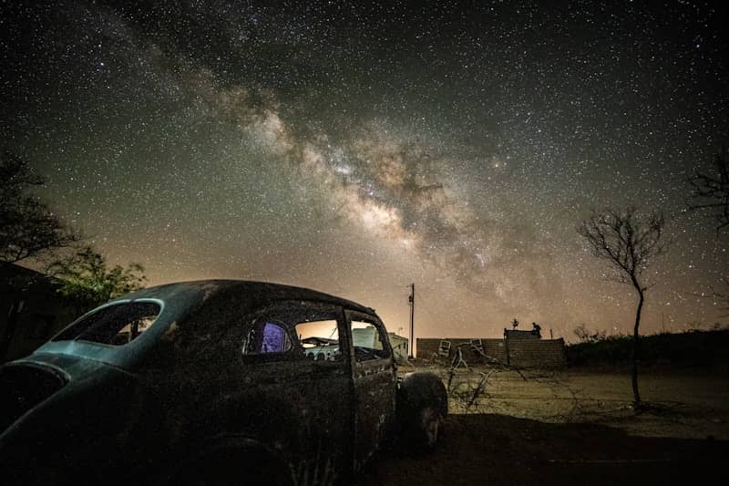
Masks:
[[[354,467],[358,469],[395,426],[395,366],[382,322],[351,310],[345,316],[352,343]]]

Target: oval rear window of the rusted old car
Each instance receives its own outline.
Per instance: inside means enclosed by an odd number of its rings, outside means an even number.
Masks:
[[[54,337],[54,341],[90,341],[123,346],[147,331],[161,312],[154,302],[109,305],[78,321]]]

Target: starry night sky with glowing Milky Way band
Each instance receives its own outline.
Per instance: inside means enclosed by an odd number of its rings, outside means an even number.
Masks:
[[[707,328],[729,235],[685,211],[729,143],[713,2],[0,2],[3,145],[150,284],[241,278],[416,336],[628,332],[576,233],[669,218],[645,334]]]

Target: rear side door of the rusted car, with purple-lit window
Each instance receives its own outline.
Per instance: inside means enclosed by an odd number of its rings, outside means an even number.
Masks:
[[[352,466],[353,432],[342,308],[280,302],[247,321],[241,385],[249,388],[248,419],[256,410],[251,424],[256,436],[272,448],[285,449],[297,483],[341,481]]]

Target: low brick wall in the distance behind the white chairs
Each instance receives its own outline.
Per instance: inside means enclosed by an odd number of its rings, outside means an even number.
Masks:
[[[474,354],[470,346],[470,338],[445,337],[451,342],[449,358],[455,357],[456,348],[461,346],[463,358],[467,363],[478,363],[479,357]],[[437,353],[441,338],[418,337],[417,357],[429,359]],[[514,367],[563,367],[567,365],[564,339],[516,339],[509,340],[481,338],[484,353],[503,363]],[[507,357],[508,350],[508,357]]]

